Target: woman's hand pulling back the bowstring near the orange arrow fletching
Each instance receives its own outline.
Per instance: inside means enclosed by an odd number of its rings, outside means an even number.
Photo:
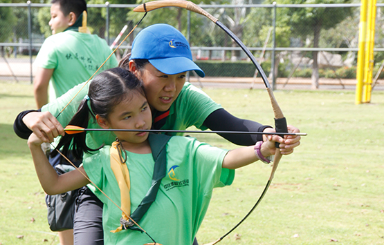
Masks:
[[[23,122],[43,142],[53,142],[55,137],[64,136],[64,128],[50,112],[30,112],[23,117]]]

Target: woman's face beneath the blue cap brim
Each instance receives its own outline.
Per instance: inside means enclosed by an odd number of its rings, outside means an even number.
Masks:
[[[143,80],[149,105],[158,111],[166,111],[171,107],[185,84],[186,75],[187,72],[167,75],[157,70],[151,63],[147,63],[143,70],[136,72],[136,76]]]

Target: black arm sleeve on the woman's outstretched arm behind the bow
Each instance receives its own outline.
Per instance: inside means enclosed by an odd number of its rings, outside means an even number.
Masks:
[[[203,126],[210,130],[219,131],[247,131],[262,132],[265,128],[271,126],[262,125],[256,121],[239,119],[224,109],[215,110],[204,121]],[[262,135],[235,135],[235,134],[219,134],[224,139],[231,141],[239,146],[251,146],[257,141],[262,141]]]

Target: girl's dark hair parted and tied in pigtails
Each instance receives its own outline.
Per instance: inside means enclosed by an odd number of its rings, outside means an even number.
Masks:
[[[84,98],[68,125],[87,128],[90,119],[95,120],[95,115],[107,119],[113,108],[125,99],[129,99],[134,93],[144,94],[143,83],[131,72],[122,68],[104,70],[97,75],[89,85],[88,97]],[[100,149],[92,149],[86,146],[86,133],[64,135],[60,139],[56,149],[62,148],[62,153],[81,159],[82,154]],[[56,150],[53,150],[56,155]]]

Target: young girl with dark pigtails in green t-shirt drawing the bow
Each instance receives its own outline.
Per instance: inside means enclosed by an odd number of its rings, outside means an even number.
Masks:
[[[122,68],[113,68],[93,79],[88,95],[70,124],[86,127],[92,120],[104,129],[151,128],[151,110],[135,75]],[[156,144],[168,136],[120,131],[115,135],[117,141],[112,146],[96,151],[86,146],[84,133],[64,136],[58,146],[64,146],[64,154],[73,139],[73,155],[81,157],[84,152],[84,157],[80,171],[60,176],[42,152],[42,140],[34,133],[28,139],[37,175],[46,193],[64,193],[89,184],[83,173],[125,211],[126,214],[122,214],[104,194],[95,191],[104,203],[104,244],[153,242],[136,228],[124,231],[129,226],[127,215],[135,214],[138,206],[146,205],[147,210],[136,215],[141,217],[135,221],[156,242],[192,244],[208,208],[212,188],[231,184],[235,175],[233,169],[275,153],[275,141],[279,139],[277,135],[268,135],[268,140],[255,153],[254,146],[228,151],[179,136],[169,137],[163,143],[165,148],[158,150],[161,147]],[[158,167],[161,163],[165,164],[164,173]],[[161,175],[159,182],[152,180],[159,179],[157,175]],[[151,192],[156,183],[158,190]],[[142,202],[146,196],[154,197],[149,206]]]

